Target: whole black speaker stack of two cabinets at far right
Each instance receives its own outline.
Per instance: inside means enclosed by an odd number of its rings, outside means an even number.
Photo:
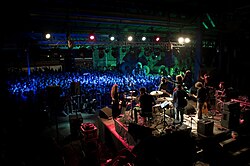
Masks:
[[[221,126],[234,129],[239,126],[240,119],[240,103],[239,102],[225,102],[221,117]]]

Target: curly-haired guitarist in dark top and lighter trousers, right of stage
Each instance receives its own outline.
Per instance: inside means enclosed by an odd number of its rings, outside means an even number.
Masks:
[[[198,119],[202,119],[202,112],[204,111],[204,106],[207,107],[206,102],[208,99],[208,93],[206,88],[200,81],[195,83],[195,87],[197,88],[197,94],[194,95],[194,97],[197,99]],[[207,110],[207,108],[205,108],[205,110]],[[208,113],[208,111],[204,113]]]

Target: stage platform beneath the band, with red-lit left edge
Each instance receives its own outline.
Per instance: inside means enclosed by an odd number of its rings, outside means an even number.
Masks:
[[[166,117],[165,121],[156,117],[151,123],[141,125],[126,121],[124,115],[117,119],[99,117],[98,129],[101,141],[110,144],[116,151],[124,148],[131,151],[143,138],[160,137],[175,131],[186,131],[195,137],[216,136],[229,131],[220,125],[220,116],[198,122],[195,117],[184,115],[183,124],[174,124],[170,117]]]

